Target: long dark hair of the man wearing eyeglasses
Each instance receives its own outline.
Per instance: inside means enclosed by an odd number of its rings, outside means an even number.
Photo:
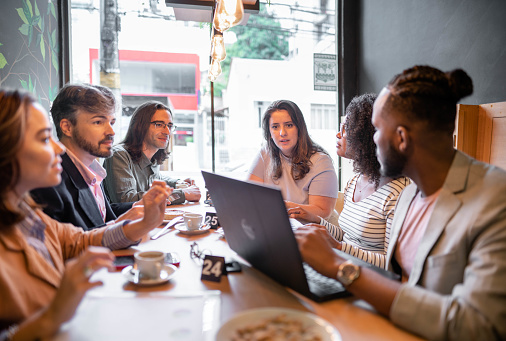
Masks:
[[[172,112],[165,104],[157,101],[148,101],[141,104],[132,114],[132,119],[128,125],[128,131],[123,140],[125,149],[130,153],[133,162],[138,162],[142,157],[142,144],[146,137],[151,118],[158,110],[167,110],[172,116]],[[169,145],[165,149],[158,149],[151,160],[161,165],[169,157]]]

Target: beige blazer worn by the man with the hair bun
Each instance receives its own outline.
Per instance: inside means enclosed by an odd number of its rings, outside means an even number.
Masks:
[[[418,189],[399,198],[387,252]],[[506,339],[506,172],[456,152],[392,321],[431,340]]]

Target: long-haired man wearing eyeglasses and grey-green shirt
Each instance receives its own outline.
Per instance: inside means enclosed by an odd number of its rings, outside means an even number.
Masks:
[[[200,189],[193,180],[181,181],[160,173],[174,129],[172,113],[163,103],[148,101],[134,111],[125,139],[113,147],[113,156],[104,162],[109,174],[104,187],[112,202],[139,200],[154,180],[176,188],[169,199],[172,204],[200,200]],[[177,189],[180,186],[186,188]]]

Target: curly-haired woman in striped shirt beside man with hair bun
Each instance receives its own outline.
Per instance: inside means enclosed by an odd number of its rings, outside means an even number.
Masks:
[[[390,240],[390,226],[399,194],[409,179],[382,176],[376,158],[374,126],[371,123],[376,95],[365,94],[353,98],[346,108],[345,121],[337,133],[337,154],[353,160],[357,173],[344,189],[344,206],[339,225],[294,208],[291,217],[318,223],[332,235],[334,247],[385,268],[385,256]],[[329,236],[330,238],[330,236]]]

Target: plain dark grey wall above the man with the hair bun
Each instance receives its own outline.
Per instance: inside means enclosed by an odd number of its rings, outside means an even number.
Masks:
[[[462,103],[506,101],[506,1],[362,0],[358,16],[359,93],[426,64],[471,76]]]

